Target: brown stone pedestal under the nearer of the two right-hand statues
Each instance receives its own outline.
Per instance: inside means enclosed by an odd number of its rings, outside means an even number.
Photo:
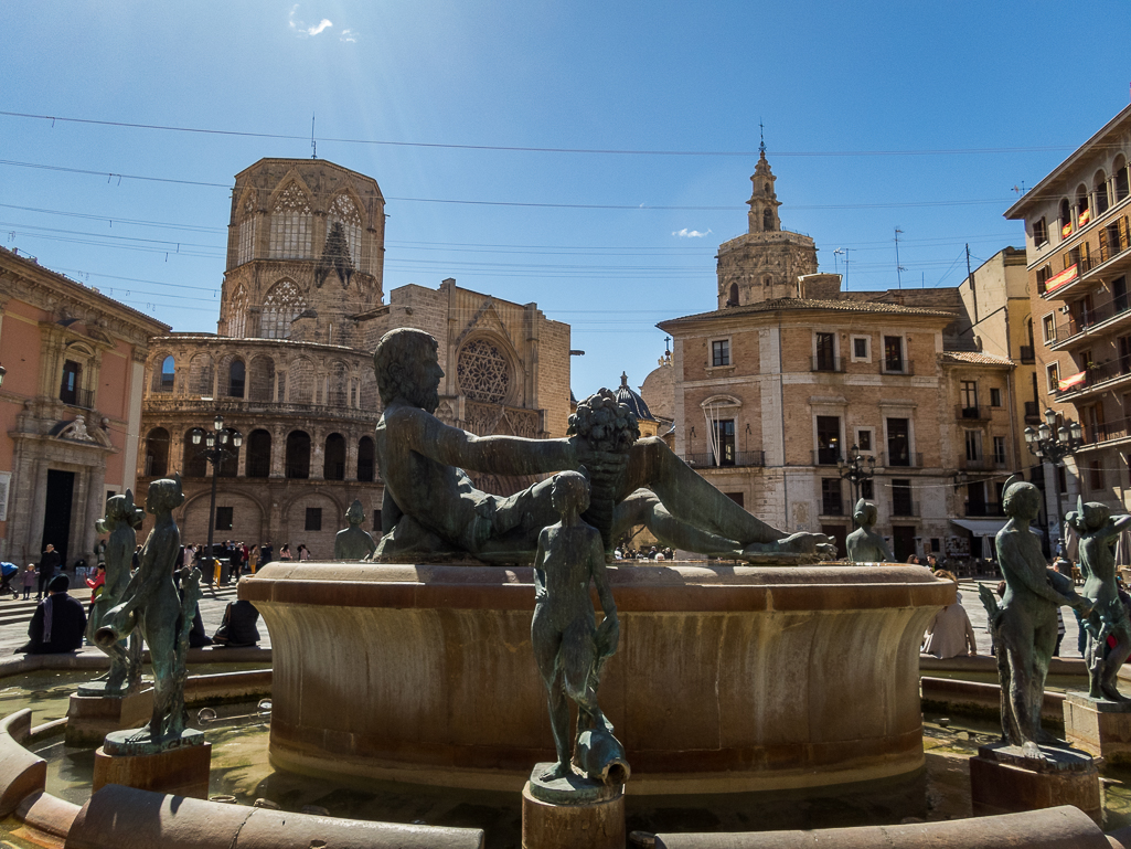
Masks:
[[[1044,760],[1026,757],[1020,746],[981,746],[970,758],[974,815],[1074,805],[1098,823],[1103,808],[1093,760],[1071,748],[1041,746],[1041,753]]]

